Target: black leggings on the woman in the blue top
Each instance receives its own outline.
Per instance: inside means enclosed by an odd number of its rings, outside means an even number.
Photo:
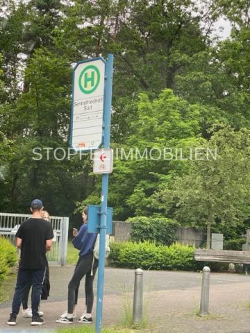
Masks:
[[[78,259],[76,268],[74,270],[74,274],[68,286],[68,314],[73,313],[74,305],[77,304],[78,288],[84,275],[86,275],[85,303],[88,314],[91,314],[92,312],[92,307],[94,302],[93,282],[94,282],[94,275],[97,272],[98,260],[94,259],[93,275],[91,275],[92,263],[93,263],[93,253],[88,253],[88,255],[84,255],[83,257],[80,256]]]

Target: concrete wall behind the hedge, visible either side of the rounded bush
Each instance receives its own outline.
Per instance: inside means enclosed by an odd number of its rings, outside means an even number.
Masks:
[[[113,221],[113,239],[115,241],[128,241],[131,234],[131,223]],[[194,228],[180,227],[177,230],[178,242],[181,244],[194,245],[199,248],[203,241],[203,232]]]

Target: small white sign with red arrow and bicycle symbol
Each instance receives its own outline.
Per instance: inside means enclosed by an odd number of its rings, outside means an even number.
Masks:
[[[98,149],[94,151],[94,173],[112,173],[113,149]]]

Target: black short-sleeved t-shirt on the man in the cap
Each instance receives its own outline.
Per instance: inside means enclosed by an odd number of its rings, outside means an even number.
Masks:
[[[40,268],[47,265],[46,241],[53,238],[51,223],[31,218],[24,221],[16,237],[22,239],[20,268]]]

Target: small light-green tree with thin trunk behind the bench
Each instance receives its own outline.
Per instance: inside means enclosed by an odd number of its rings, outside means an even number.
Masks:
[[[172,185],[162,185],[155,194],[158,207],[167,214],[174,208],[180,223],[206,226],[207,248],[210,232],[216,223],[235,225],[250,216],[250,130],[236,132],[222,126],[203,148],[217,148],[217,158],[206,155],[192,163],[188,173]]]

